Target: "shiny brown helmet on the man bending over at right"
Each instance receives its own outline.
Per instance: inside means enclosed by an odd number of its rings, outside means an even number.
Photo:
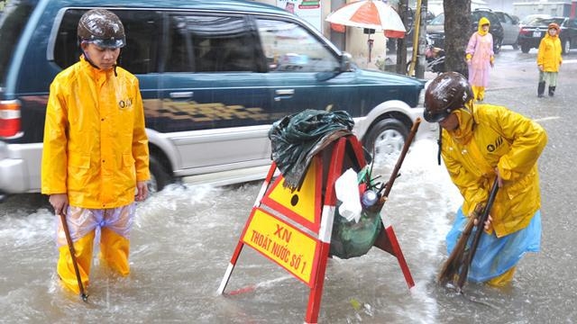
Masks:
[[[451,112],[464,107],[473,97],[471,85],[457,72],[445,72],[426,87],[425,112],[429,122],[443,121]]]

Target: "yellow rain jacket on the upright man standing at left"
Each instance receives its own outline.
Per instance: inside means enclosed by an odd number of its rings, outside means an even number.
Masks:
[[[50,85],[41,192],[68,193],[69,204],[115,208],[134,201],[150,178],[138,79],[121,67],[102,71],[85,58]]]

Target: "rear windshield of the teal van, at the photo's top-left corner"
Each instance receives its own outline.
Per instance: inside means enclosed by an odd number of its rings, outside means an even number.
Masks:
[[[37,1],[8,0],[0,12],[0,87],[4,86],[8,62],[20,40],[24,26],[32,14]]]

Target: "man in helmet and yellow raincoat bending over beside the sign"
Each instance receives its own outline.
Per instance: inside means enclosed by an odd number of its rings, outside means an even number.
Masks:
[[[440,150],[461,194],[463,206],[447,235],[449,254],[478,204],[487,202],[490,187],[499,192],[484,224],[468,280],[493,286],[508,284],[526,252],[541,243],[541,194],[537,158],[547,135],[535,121],[491,104],[473,103],[471,85],[459,73],[435,77],[426,88],[426,121],[442,127]]]

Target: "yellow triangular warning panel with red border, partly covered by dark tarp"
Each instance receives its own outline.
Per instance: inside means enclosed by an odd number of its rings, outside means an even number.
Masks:
[[[313,158],[299,190],[292,191],[284,186],[282,175],[276,179],[262,203],[299,224],[317,231],[321,218],[322,164],[319,157]]]

